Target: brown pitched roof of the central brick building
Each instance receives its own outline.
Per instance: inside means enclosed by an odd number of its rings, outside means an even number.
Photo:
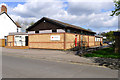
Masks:
[[[59,25],[61,27],[79,29],[79,30],[83,30],[83,31],[87,31],[87,32],[91,32],[91,33],[95,34],[95,32],[87,30],[87,29],[84,29],[82,27],[78,27],[78,26],[75,26],[75,25],[71,25],[71,24],[64,23],[64,22],[61,22],[61,21],[58,21],[58,20],[54,20],[54,19],[50,19],[50,18],[47,18],[47,17],[43,17],[42,19],[40,19],[39,21],[37,21],[35,24],[33,24],[32,26],[30,26],[26,30],[29,31],[31,28],[35,27],[37,24],[39,24],[40,22],[42,22],[44,20],[45,21],[49,21],[49,22],[51,22],[53,24],[57,24],[57,25]]]

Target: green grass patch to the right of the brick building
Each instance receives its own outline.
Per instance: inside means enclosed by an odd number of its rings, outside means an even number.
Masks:
[[[104,48],[85,54],[85,57],[103,57],[103,58],[120,58],[120,54],[114,53],[114,48]]]

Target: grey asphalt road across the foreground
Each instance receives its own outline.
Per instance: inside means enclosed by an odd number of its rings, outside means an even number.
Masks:
[[[3,78],[117,78],[109,68],[2,56]]]

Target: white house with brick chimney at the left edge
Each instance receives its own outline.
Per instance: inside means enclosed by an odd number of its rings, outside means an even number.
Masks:
[[[20,32],[21,27],[7,14],[7,7],[1,6],[0,13],[0,39],[4,39],[10,32]]]

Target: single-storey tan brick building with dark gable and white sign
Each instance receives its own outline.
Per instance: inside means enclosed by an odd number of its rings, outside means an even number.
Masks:
[[[75,46],[93,47],[100,46],[103,41],[102,37],[95,36],[96,33],[93,31],[46,17],[27,28],[26,31],[29,48],[71,49]]]

